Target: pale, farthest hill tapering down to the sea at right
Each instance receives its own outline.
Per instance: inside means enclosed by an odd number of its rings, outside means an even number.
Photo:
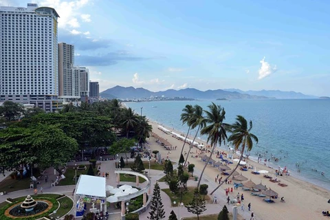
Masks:
[[[249,94],[252,96],[266,96],[268,98],[280,98],[280,99],[300,99],[300,98],[318,98],[318,96],[310,96],[302,94],[301,92],[296,91],[280,91],[280,90],[261,90],[261,91],[242,91],[240,89],[223,89],[225,91],[236,91],[240,94]]]

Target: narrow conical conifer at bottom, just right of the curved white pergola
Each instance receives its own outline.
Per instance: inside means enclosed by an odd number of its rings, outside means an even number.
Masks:
[[[165,218],[164,206],[162,203],[162,197],[160,196],[159,184],[156,181],[155,187],[153,188],[153,198],[151,199],[151,212],[148,219],[160,220]]]

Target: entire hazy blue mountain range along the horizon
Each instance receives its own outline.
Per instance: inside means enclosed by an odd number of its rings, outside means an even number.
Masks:
[[[167,98],[185,97],[195,99],[258,99],[258,98],[318,98],[316,96],[308,96],[295,91],[279,91],[279,90],[261,90],[261,91],[242,91],[240,89],[216,89],[200,91],[198,89],[168,89],[166,91],[149,91],[144,88],[121,87],[115,86],[100,93],[102,98],[121,98],[121,99],[140,99],[165,96]]]

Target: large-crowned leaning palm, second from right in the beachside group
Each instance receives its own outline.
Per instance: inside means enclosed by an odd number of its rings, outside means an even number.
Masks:
[[[206,166],[208,166],[208,162],[210,162],[214,148],[217,146],[217,143],[221,145],[221,142],[223,142],[223,144],[225,144],[225,140],[227,139],[226,131],[229,129],[229,124],[223,123],[223,120],[225,120],[225,109],[221,108],[219,104],[216,105],[213,102],[212,104],[208,105],[208,108],[210,111],[204,110],[206,113],[205,122],[207,125],[201,129],[201,135],[208,134],[207,142],[210,142],[211,146],[213,145],[213,147],[210,157],[208,157],[208,161],[201,171],[201,176],[199,177],[197,188],[199,188],[201,177],[203,176]]]

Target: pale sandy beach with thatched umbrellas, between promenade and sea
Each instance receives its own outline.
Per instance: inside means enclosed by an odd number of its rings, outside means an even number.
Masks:
[[[151,125],[153,126],[153,133],[159,135],[159,137],[164,138],[167,142],[169,142],[172,146],[177,146],[177,150],[175,151],[167,151],[164,146],[160,144],[151,144],[152,150],[157,150],[162,154],[162,157],[166,159],[168,157],[177,162],[179,160],[179,153],[181,151],[181,147],[184,144],[183,141],[177,140],[175,137],[172,137],[170,134],[166,134],[163,131],[158,129],[158,125],[156,122],[150,121]],[[164,125],[162,125],[164,126]],[[173,131],[167,127],[168,130]],[[179,131],[175,131],[176,133],[180,133]],[[193,139],[193,137],[189,137]],[[198,142],[202,142],[201,140],[197,140]],[[206,146],[206,142],[203,142]],[[184,147],[184,151],[188,152],[189,145],[186,144]],[[203,166],[205,165],[204,162],[201,161],[199,157],[195,157],[196,155],[196,147],[192,148],[192,156],[189,155],[188,162],[190,164],[195,164],[196,170],[202,170]],[[221,150],[222,151],[222,150]],[[209,154],[207,154],[209,155]],[[212,159],[219,161],[218,158],[212,157]],[[251,159],[247,160],[248,164],[256,167],[256,170],[268,170],[270,173],[269,175],[275,173],[275,170],[269,168],[263,164],[259,164],[257,162],[252,161]],[[234,168],[236,166],[234,164],[229,165],[230,168]],[[254,175],[251,173],[251,170],[248,171],[241,171],[239,168],[237,169],[239,173],[254,181],[255,184],[260,184],[262,182],[263,185],[266,185],[267,188],[271,188],[275,192],[278,193],[278,199],[274,199],[275,203],[265,203],[262,197],[256,197],[250,195],[250,191],[243,191],[241,187],[239,189],[234,190],[231,195],[235,196],[237,192],[244,194],[245,200],[245,208],[247,208],[248,203],[252,204],[252,210],[256,214],[255,219],[267,219],[267,220],[278,220],[278,219],[327,219],[329,217],[322,216],[323,210],[330,210],[330,204],[327,201],[330,199],[329,191],[315,186],[314,184],[310,184],[306,181],[302,181],[300,179],[296,179],[292,176],[278,176],[277,179],[281,180],[281,183],[287,184],[288,186],[282,187],[279,186],[277,183],[273,183],[263,177],[263,175]],[[214,181],[215,177],[219,174],[221,177],[221,172],[214,168],[213,166],[207,166],[206,172],[204,173],[203,177],[209,179],[210,181]],[[275,177],[275,175],[274,175]],[[223,179],[225,176],[223,176]],[[244,182],[244,181],[243,181]],[[197,184],[197,183],[196,183]],[[224,189],[225,188],[232,188],[233,185],[231,184],[223,184],[218,191],[222,191],[221,195],[225,197]],[[209,192],[212,192],[214,188],[209,188]],[[219,194],[219,193],[218,193]],[[285,203],[281,202],[280,198],[285,198]]]

